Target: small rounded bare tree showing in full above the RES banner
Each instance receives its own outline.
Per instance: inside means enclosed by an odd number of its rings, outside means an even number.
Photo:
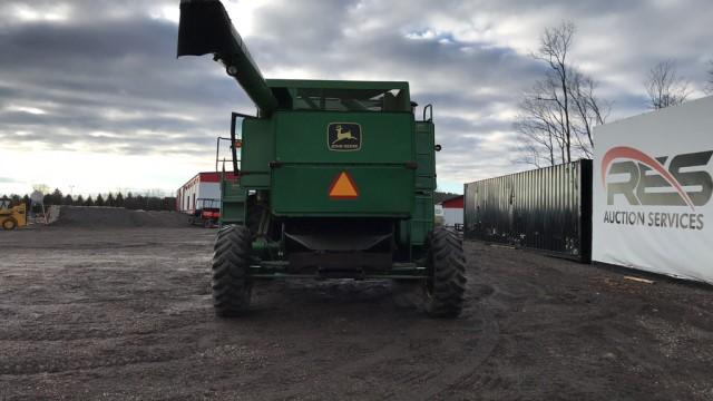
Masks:
[[[652,67],[644,85],[652,109],[681,105],[691,95],[688,81],[678,76],[673,60],[661,61]]]

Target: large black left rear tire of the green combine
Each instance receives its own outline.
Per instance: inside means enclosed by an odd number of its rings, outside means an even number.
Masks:
[[[252,241],[245,226],[218,231],[213,253],[213,306],[218,316],[235,316],[250,306]]]

